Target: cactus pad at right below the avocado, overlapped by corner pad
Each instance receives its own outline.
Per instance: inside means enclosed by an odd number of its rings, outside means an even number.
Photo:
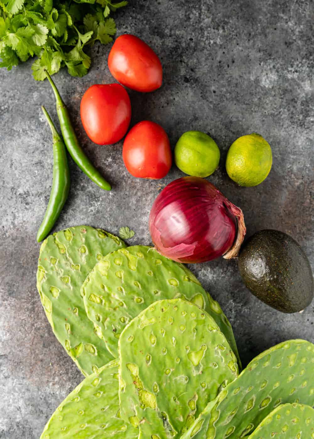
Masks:
[[[208,403],[182,439],[242,438],[280,404],[314,405],[313,370],[310,342],[288,340],[267,349]]]

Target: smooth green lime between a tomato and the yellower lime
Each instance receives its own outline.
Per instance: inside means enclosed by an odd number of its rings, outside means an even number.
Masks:
[[[219,158],[215,140],[201,131],[186,131],[175,145],[175,164],[194,177],[208,177],[215,172]]]

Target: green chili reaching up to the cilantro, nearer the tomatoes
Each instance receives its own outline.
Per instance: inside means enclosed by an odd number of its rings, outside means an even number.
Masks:
[[[46,72],[46,76],[55,94],[58,118],[60,121],[62,136],[66,144],[67,150],[69,151],[77,166],[79,166],[80,169],[82,169],[82,171],[94,183],[98,184],[98,186],[105,191],[110,191],[110,184],[103,178],[103,176],[99,173],[95,166],[90,162],[89,158],[85,155],[84,151],[80,147],[79,141],[77,140],[77,136],[70,120],[68,109],[66,108],[66,104],[62,101],[62,97],[60,96],[60,93],[58,92],[58,89],[48,72]]]

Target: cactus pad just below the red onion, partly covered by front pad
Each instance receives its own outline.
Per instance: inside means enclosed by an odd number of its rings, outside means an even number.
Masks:
[[[238,357],[231,325],[219,304],[183,264],[152,247],[135,245],[105,256],[89,273],[81,293],[88,317],[114,357],[119,335],[133,317],[157,300],[176,297],[205,309]]]

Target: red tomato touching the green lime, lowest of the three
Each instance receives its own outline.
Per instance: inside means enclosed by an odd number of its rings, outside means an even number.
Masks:
[[[172,164],[167,133],[160,125],[148,120],[131,128],[124,139],[122,154],[124,165],[135,177],[162,178]]]

